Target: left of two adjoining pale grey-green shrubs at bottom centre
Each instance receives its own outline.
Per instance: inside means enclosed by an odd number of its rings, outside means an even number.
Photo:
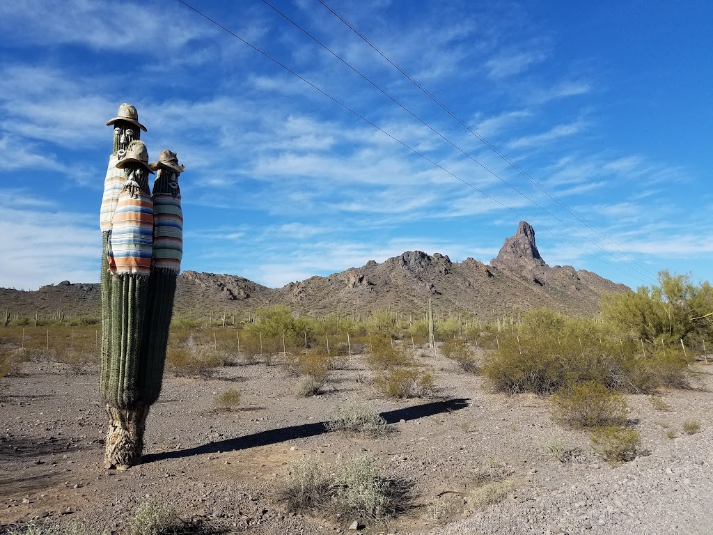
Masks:
[[[303,455],[287,470],[282,499],[290,509],[314,509],[329,501],[329,479],[324,464],[315,455]]]

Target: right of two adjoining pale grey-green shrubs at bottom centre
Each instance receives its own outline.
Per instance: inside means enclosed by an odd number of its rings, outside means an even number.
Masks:
[[[335,475],[332,489],[334,500],[351,516],[381,519],[390,509],[389,482],[369,455],[345,463]]]

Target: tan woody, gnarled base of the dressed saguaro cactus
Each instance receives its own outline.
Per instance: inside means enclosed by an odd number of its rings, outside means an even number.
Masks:
[[[141,462],[143,432],[148,405],[133,410],[106,405],[108,428],[104,448],[104,468],[125,470]]]

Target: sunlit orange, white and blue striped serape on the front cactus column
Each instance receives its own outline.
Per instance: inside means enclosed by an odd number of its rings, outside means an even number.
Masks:
[[[116,275],[150,275],[153,249],[153,200],[141,191],[122,190],[111,218],[109,271]]]

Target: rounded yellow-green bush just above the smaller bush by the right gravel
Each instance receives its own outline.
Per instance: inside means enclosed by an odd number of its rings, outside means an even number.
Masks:
[[[626,422],[627,402],[594,381],[570,384],[552,398],[555,418],[570,427],[600,427]]]

